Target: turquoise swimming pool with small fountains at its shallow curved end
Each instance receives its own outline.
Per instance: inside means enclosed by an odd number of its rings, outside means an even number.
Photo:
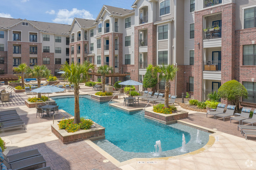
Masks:
[[[51,97],[58,103],[59,109],[74,115],[74,97]],[[197,150],[209,140],[208,132],[200,131],[202,144],[195,143],[197,129],[174,123],[161,124],[144,117],[140,112],[125,112],[109,106],[107,102],[97,102],[80,97],[80,116],[92,119],[105,127],[106,139],[94,141],[103,150],[118,161],[134,157],[153,157],[154,144],[161,141],[162,155],[173,156],[184,154],[180,152],[182,133],[185,135],[187,152]]]

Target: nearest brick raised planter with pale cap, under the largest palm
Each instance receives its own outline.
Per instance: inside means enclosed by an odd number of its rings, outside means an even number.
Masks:
[[[80,130],[74,133],[68,133],[66,130],[59,130],[58,124],[52,124],[51,126],[52,133],[54,133],[54,135],[56,135],[59,140],[64,144],[83,139],[105,139],[105,128],[95,122],[90,129]]]

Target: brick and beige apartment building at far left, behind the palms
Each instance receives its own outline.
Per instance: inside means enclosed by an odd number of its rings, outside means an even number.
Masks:
[[[55,75],[69,61],[70,25],[0,18],[0,72],[13,73],[21,63],[45,64]]]

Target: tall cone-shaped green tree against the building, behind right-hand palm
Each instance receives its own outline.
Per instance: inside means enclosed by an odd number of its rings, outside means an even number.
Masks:
[[[154,67],[150,64],[143,78],[144,88],[154,88],[157,84],[157,75],[154,74]]]

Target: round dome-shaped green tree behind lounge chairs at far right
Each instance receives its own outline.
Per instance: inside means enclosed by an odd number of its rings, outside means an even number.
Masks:
[[[218,90],[218,95],[227,101],[230,101],[231,104],[236,105],[236,111],[239,110],[239,99],[241,97],[247,98],[248,92],[237,80],[230,80],[221,85]]]

